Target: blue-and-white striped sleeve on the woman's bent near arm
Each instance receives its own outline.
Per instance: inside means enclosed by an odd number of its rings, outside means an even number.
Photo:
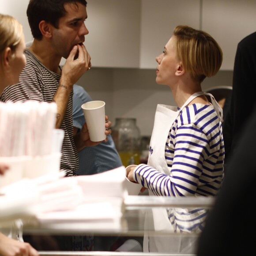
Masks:
[[[148,165],[139,165],[134,178],[157,196],[192,196],[198,187],[202,164],[208,155],[209,141],[205,134],[183,126],[176,132],[170,175]]]

